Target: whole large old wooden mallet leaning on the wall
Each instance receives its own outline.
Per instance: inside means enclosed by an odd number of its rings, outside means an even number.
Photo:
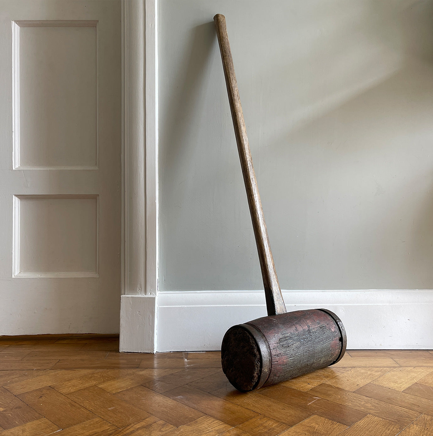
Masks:
[[[224,15],[215,15],[214,22],[268,311],[267,317],[227,330],[221,345],[221,363],[236,389],[251,391],[338,362],[346,350],[346,332],[341,320],[329,310],[286,312],[252,166]]]

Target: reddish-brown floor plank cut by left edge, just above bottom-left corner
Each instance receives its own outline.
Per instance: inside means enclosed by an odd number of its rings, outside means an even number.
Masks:
[[[0,426],[3,429],[11,429],[41,418],[29,405],[0,387]]]

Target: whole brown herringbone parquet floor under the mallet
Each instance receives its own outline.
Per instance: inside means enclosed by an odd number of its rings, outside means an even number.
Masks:
[[[219,352],[117,350],[117,337],[0,337],[0,435],[433,436],[433,351],[348,351],[242,394]]]

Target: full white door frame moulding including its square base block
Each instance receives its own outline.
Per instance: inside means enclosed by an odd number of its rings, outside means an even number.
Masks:
[[[156,350],[157,65],[157,0],[123,0],[120,351]]]

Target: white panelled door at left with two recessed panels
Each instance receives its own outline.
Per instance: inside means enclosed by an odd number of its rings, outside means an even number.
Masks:
[[[0,1],[0,334],[119,331],[120,14]]]

